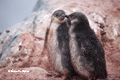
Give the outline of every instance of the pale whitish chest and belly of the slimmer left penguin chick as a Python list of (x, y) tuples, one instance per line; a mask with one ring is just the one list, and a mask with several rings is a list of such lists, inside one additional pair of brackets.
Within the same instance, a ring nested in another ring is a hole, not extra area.
[(63, 72), (63, 66), (61, 62), (61, 49), (59, 49), (59, 41), (58, 41), (58, 28), (60, 24), (52, 23), (50, 26), (49, 32), (49, 42), (48, 42), (48, 49), (49, 49), (49, 59), (51, 60), (52, 64), (54, 65), (55, 70), (58, 72)]

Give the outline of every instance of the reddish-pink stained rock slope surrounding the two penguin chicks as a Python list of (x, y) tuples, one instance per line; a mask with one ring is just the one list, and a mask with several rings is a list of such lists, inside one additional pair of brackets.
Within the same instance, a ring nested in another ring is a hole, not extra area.
[[(47, 54), (43, 54), (42, 50), (45, 31), (49, 26), (51, 14), (57, 9), (63, 9), (67, 14), (75, 11), (86, 14), (91, 28), (103, 44), (109, 74), (108, 79), (119, 80), (119, 4), (120, 0), (51, 0), (47, 1), (45, 9), (41, 11), (39, 11), (38, 6), (35, 8), (38, 10), (28, 16), (25, 21), (0, 33), (0, 80), (53, 80), (52, 77), (47, 78), (45, 76), (47, 71), (51, 70), (51, 66)], [(9, 69), (27, 69), (30, 72), (9, 73)], [(60, 80), (60, 78), (56, 78), (56, 80)]]

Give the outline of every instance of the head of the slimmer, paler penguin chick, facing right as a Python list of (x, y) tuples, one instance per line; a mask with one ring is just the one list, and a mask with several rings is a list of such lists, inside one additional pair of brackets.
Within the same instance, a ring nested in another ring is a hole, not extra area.
[(65, 12), (63, 10), (56, 10), (53, 14), (52, 14), (52, 20), (53, 22), (56, 23), (63, 23), (65, 22)]

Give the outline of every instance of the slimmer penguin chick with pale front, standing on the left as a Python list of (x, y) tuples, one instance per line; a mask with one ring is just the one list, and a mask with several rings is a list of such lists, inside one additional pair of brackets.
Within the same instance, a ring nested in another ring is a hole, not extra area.
[(54, 70), (60, 76), (63, 76), (64, 80), (69, 80), (75, 71), (70, 59), (69, 35), (65, 22), (65, 12), (56, 10), (51, 18), (48, 40), (46, 40), (48, 58)]

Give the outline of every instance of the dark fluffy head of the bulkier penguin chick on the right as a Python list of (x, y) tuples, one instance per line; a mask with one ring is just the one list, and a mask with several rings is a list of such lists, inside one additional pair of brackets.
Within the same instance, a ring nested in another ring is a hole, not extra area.
[(69, 25), (89, 25), (87, 17), (81, 12), (74, 12), (67, 17), (67, 24)]

